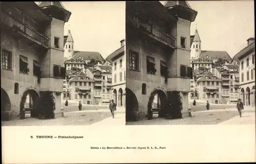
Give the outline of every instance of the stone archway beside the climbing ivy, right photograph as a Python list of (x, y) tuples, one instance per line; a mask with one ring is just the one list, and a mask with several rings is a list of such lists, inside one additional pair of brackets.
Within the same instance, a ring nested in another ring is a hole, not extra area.
[(150, 112), (152, 110), (152, 104), (156, 94), (158, 95), (158, 100), (160, 100), (160, 104), (157, 105), (161, 109), (159, 112), (159, 116), (166, 117), (168, 99), (167, 99), (166, 93), (161, 89), (155, 89), (151, 92), (150, 98), (148, 99), (148, 103), (147, 103), (147, 115), (150, 116)]

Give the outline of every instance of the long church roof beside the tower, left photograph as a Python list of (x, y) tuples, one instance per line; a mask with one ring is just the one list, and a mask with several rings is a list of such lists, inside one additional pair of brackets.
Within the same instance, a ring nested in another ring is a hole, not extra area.
[(91, 51), (74, 51), (73, 57), (79, 59), (79, 56), (83, 58), (83, 60), (92, 60), (95, 61), (105, 61), (105, 59), (101, 56), (99, 52), (91, 52)]

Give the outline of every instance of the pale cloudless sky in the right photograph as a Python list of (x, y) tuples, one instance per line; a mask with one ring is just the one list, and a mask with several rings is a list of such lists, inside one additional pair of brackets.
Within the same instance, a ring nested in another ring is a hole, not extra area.
[[(253, 1), (187, 1), (198, 12), (190, 35), (197, 28), (202, 50), (227, 51), (233, 57), (254, 37)], [(161, 2), (161, 3), (164, 3)]]

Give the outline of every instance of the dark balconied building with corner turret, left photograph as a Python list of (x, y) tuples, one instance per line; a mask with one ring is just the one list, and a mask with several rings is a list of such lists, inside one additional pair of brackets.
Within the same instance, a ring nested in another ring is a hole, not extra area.
[(40, 96), (47, 91), (55, 97), (55, 116), (61, 116), (60, 43), (71, 13), (61, 2), (1, 2), (0, 8), (2, 120), (24, 118), (28, 94), (29, 107), (40, 110)]

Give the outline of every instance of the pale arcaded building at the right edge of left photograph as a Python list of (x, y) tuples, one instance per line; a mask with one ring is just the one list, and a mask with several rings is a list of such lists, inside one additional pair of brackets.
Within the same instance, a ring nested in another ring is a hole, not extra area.
[(111, 53), (106, 60), (112, 64), (112, 99), (119, 107), (125, 107), (126, 59), (124, 55), (125, 40), (121, 47)]

